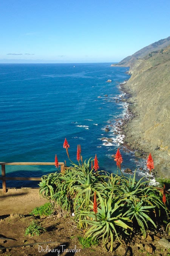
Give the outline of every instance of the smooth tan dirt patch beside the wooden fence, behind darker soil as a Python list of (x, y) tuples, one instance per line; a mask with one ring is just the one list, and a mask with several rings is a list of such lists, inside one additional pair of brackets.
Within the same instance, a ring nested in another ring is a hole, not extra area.
[(0, 217), (16, 213), (28, 214), (46, 202), (45, 198), (40, 198), (39, 188), (9, 188), (6, 193), (0, 189)]

